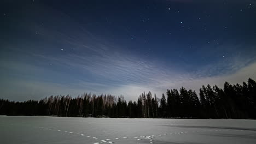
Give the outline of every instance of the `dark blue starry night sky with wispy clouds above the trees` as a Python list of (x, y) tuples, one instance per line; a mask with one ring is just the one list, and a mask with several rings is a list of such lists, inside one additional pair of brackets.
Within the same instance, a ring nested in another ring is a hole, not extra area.
[(4, 99), (256, 79), (255, 0), (3, 0), (0, 20)]

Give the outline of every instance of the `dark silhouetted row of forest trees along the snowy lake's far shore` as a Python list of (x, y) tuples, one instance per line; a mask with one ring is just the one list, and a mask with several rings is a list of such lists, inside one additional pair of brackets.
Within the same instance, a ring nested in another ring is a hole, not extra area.
[(124, 96), (84, 93), (72, 98), (56, 95), (42, 100), (15, 102), (0, 99), (0, 115), (129, 118), (253, 118), (256, 119), (256, 82), (224, 83), (223, 88), (202, 86), (199, 95), (184, 87), (167, 89), (159, 99), (151, 92), (137, 101)]

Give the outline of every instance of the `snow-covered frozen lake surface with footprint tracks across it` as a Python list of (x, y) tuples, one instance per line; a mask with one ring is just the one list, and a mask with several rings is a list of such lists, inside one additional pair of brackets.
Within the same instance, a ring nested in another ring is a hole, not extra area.
[(256, 143), (256, 121), (0, 116), (0, 143)]

